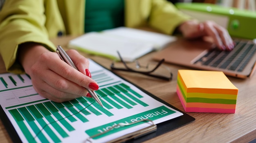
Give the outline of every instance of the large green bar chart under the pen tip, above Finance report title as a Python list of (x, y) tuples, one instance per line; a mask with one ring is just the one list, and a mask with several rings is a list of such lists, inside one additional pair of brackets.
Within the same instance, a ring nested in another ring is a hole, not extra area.
[[(91, 116), (92, 114), (101, 116), (104, 114), (107, 117), (111, 117), (114, 116), (114, 114), (111, 113), (111, 109), (131, 109), (135, 105), (148, 106), (148, 104), (136, 98), (136, 95), (132, 93), (129, 93), (130, 97), (128, 97), (128, 90), (130, 89), (122, 89), (123, 91), (120, 91), (119, 88), (115, 87), (121, 88), (122, 84), (96, 91), (103, 101), (103, 106), (106, 108), (99, 106), (92, 98), (80, 97), (63, 103), (47, 101), (25, 107), (18, 107), (9, 110), (9, 112), (16, 120), (22, 132), (27, 134), (29, 128), (34, 132), (29, 131), (31, 132), (27, 135), (29, 142), (35, 141), (35, 136), (32, 134), (36, 134), (36, 137), (43, 142), (61, 142), (58, 136), (60, 135), (62, 138), (69, 137), (69, 132), (75, 130), (72, 123), (76, 121), (82, 123), (89, 122), (86, 118), (87, 116)], [(25, 126), (24, 122), (27, 122), (28, 126)], [(37, 124), (40, 126), (37, 126)], [(53, 129), (50, 128), (49, 125), (51, 125)], [(43, 130), (48, 133), (47, 136), (50, 137), (50, 140), (45, 137), (42, 132)], [(54, 131), (57, 131), (57, 134), (54, 133)]]

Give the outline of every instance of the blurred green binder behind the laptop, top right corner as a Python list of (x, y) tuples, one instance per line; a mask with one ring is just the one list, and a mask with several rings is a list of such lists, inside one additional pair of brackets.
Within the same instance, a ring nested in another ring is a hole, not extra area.
[(200, 22), (211, 20), (232, 37), (256, 39), (256, 0), (168, 0)]

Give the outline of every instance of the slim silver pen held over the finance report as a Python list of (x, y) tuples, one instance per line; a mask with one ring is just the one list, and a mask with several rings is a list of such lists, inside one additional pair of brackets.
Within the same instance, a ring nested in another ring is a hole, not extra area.
[[(58, 55), (61, 57), (61, 59), (63, 61), (65, 61), (68, 65), (70, 65), (71, 67), (74, 67), (76, 70), (78, 70), (75, 66), (75, 64), (73, 63), (73, 61), (71, 60), (71, 58), (67, 55), (67, 53), (65, 52), (65, 50), (63, 50), (63, 48), (58, 45), (57, 46), (57, 50), (56, 52), (58, 53)], [(90, 93), (90, 95), (92, 95), (92, 98), (94, 100), (96, 100), (96, 102), (103, 107), (102, 103), (101, 103), (101, 100), (99, 99), (99, 97), (97, 96), (97, 94), (94, 92), (94, 91), (91, 91), (90, 89), (87, 89), (86, 90)]]

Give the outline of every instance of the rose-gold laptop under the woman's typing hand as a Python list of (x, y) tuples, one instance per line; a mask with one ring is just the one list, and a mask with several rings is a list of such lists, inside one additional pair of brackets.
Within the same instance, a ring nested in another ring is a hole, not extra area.
[(194, 69), (222, 71), (227, 76), (247, 78), (256, 68), (256, 44), (253, 40), (234, 39), (232, 51), (221, 51), (209, 40), (177, 39), (153, 55), (154, 60)]

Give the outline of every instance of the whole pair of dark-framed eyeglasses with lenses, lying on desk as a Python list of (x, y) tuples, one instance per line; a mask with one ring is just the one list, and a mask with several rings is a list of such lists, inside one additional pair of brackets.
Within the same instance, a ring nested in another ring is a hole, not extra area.
[(173, 74), (168, 67), (162, 65), (164, 63), (164, 59), (157, 62), (150, 62), (147, 65), (141, 65), (139, 61), (135, 60), (133, 62), (125, 62), (121, 57), (121, 54), (117, 51), (119, 58), (122, 62), (122, 65), (116, 64), (113, 62), (111, 64), (112, 70), (120, 70), (126, 72), (135, 72), (139, 74), (144, 74), (146, 76), (151, 76), (154, 78), (159, 78), (162, 80), (171, 80), (173, 78)]

